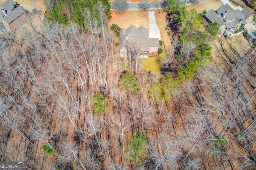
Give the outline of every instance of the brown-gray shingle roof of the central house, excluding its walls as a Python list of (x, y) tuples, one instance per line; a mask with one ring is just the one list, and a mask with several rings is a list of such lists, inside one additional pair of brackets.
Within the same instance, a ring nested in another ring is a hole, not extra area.
[(125, 47), (127, 41), (139, 47), (140, 51), (149, 51), (149, 47), (159, 46), (158, 38), (150, 39), (148, 28), (143, 26), (136, 28), (134, 25), (131, 25), (127, 29), (121, 29), (119, 32), (119, 49)]

